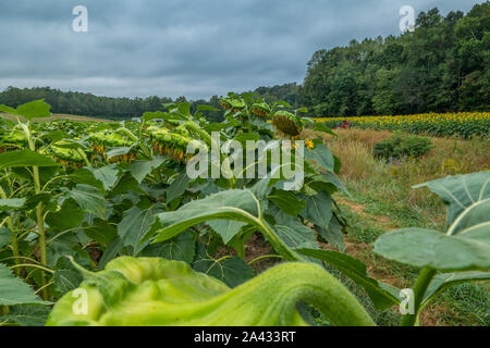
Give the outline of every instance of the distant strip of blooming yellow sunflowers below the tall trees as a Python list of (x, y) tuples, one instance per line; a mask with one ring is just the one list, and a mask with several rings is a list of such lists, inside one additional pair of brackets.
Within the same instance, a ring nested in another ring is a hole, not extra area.
[[(345, 117), (314, 119), (332, 128)], [(359, 116), (347, 119), (353, 127), (376, 130), (403, 130), (436, 137), (488, 136), (490, 112), (422, 113), (395, 116)]]

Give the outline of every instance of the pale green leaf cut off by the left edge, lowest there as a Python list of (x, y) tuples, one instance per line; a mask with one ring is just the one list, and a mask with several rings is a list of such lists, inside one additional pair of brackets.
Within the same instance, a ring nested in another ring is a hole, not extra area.
[(12, 272), (0, 263), (0, 304), (45, 304), (34, 290), (21, 278), (15, 277)]

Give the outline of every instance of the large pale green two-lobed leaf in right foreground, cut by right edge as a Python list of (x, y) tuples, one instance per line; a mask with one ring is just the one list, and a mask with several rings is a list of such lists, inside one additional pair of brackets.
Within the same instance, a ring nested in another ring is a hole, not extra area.
[(428, 183), (450, 204), (445, 234), (407, 228), (382, 235), (375, 252), (402, 263), (441, 271), (490, 268), (490, 172)]

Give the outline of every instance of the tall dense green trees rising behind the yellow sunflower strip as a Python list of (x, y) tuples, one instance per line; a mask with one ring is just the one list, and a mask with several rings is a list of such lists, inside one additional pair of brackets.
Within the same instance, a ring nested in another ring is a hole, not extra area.
[(432, 9), (413, 33), (315, 52), (303, 100), (318, 116), (489, 110), (489, 66), (490, 2)]

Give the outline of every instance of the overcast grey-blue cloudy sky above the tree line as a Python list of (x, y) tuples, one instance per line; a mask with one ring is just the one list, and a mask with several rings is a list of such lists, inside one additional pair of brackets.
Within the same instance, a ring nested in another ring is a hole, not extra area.
[[(0, 89), (192, 99), (302, 83), (321, 48), (399, 35), (400, 8), (482, 0), (1, 0)], [(76, 5), (88, 32), (75, 33)]]

